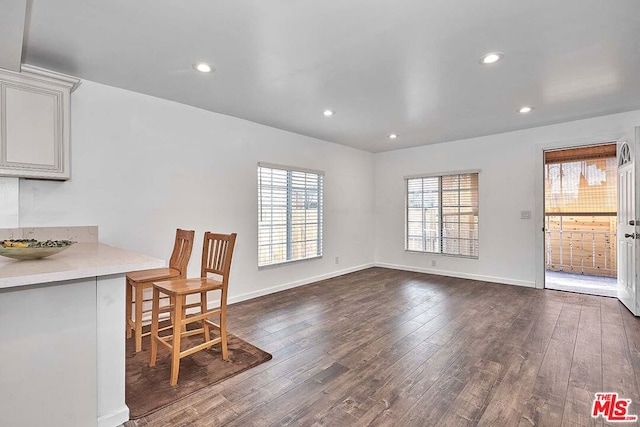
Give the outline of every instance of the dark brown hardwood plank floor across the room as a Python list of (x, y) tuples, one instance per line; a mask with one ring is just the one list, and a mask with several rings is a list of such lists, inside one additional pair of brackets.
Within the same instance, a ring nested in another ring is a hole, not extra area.
[(126, 426), (605, 425), (601, 391), (640, 415), (640, 319), (614, 298), (371, 268), (228, 328), (273, 360)]

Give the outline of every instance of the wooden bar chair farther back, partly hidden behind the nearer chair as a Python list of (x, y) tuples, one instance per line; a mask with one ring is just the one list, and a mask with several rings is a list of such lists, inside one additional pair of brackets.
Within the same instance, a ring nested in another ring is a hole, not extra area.
[[(193, 249), (193, 230), (176, 230), (176, 239), (173, 245), (168, 268), (153, 268), (150, 270), (132, 271), (127, 273), (127, 306), (126, 306), (126, 328), (127, 338), (131, 338), (133, 331), (135, 337), (136, 352), (142, 350), (142, 337), (150, 333), (142, 333), (142, 316), (149, 313), (150, 309), (145, 309), (143, 304), (151, 301), (144, 298), (144, 290), (153, 286), (153, 282), (158, 280), (169, 280), (173, 278), (187, 277), (187, 266), (191, 258)], [(135, 308), (132, 316), (132, 308)]]

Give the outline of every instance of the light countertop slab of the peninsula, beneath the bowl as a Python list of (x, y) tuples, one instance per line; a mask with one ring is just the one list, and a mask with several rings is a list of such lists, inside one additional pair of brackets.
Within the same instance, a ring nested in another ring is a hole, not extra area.
[(76, 243), (37, 260), (0, 257), (0, 289), (165, 267), (164, 260), (102, 243)]

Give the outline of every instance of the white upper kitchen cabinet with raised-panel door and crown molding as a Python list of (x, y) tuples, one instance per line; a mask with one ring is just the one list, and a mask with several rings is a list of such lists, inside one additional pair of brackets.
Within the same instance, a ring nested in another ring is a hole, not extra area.
[(42, 68), (0, 69), (0, 176), (69, 179), (71, 92), (79, 80)]

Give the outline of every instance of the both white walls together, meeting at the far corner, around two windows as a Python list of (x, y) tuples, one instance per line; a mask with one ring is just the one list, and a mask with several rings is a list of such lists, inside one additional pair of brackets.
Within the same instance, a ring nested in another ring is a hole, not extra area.
[[(102, 242), (164, 259), (175, 228), (192, 228), (190, 275), (205, 230), (235, 231), (232, 301), (373, 261), (533, 286), (541, 146), (600, 142), (640, 124), (634, 111), (373, 155), (88, 81), (72, 99), (72, 179), (20, 180), (19, 225), (98, 225)], [(258, 270), (259, 161), (326, 172), (321, 260)], [(467, 169), (481, 170), (480, 258), (405, 252), (403, 177)], [(534, 218), (521, 220), (522, 210)]]

